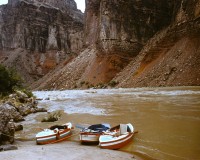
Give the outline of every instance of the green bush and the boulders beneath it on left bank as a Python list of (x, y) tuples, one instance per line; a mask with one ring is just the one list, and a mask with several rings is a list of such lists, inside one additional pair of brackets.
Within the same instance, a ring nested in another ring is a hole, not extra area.
[(23, 117), (31, 113), (46, 112), (46, 109), (37, 107), (32, 92), (22, 83), (15, 70), (0, 65), (0, 146), (13, 143), (15, 131), (23, 129), (15, 122), (23, 121)]

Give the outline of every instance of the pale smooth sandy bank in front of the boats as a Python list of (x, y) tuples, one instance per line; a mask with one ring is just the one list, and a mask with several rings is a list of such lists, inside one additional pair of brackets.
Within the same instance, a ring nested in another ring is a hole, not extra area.
[(16, 144), (18, 150), (0, 152), (2, 160), (134, 160), (132, 154), (100, 149), (98, 146), (81, 145), (64, 141), (49, 145), (36, 145), (35, 141)]

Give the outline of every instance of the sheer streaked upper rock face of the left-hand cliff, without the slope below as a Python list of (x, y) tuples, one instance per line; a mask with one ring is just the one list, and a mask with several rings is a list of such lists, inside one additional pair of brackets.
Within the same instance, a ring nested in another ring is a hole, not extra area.
[[(81, 21), (63, 14), (56, 8), (57, 5), (53, 6), (53, 1), (49, 2), (52, 6), (44, 2), (31, 2), (15, 0), (1, 7), (1, 49), (25, 48), (33, 52), (58, 50), (70, 53), (82, 47)], [(63, 7), (66, 5), (63, 4)], [(75, 4), (71, 6), (76, 9)]]

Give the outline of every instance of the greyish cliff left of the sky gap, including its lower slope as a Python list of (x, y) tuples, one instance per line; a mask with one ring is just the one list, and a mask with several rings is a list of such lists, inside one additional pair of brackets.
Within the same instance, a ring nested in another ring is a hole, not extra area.
[(83, 14), (74, 0), (9, 0), (0, 7), (1, 63), (32, 83), (83, 46)]

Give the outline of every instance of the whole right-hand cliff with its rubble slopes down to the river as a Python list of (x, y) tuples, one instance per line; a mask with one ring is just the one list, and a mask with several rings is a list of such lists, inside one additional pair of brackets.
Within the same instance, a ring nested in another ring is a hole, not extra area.
[(88, 49), (35, 87), (200, 84), (199, 0), (87, 0), (86, 7)]

